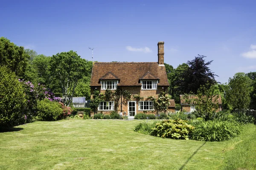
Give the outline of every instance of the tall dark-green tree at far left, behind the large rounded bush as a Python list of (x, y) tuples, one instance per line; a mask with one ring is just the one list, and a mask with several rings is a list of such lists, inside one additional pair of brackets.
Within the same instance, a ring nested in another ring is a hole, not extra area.
[(23, 77), (29, 55), (24, 47), (19, 47), (5, 37), (0, 37), (0, 65), (6, 66), (18, 77)]

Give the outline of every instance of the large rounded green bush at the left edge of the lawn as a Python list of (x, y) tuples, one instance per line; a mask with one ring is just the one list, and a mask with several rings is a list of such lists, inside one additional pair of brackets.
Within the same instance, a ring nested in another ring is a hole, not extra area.
[(20, 82), (14, 73), (0, 67), (0, 129), (23, 124), (26, 119), (24, 106), (26, 99)]

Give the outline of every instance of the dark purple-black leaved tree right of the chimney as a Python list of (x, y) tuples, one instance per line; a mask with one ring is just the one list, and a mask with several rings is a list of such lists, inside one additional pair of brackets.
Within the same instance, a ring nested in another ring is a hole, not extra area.
[(182, 81), (180, 83), (180, 89), (183, 93), (193, 92), (197, 94), (201, 85), (209, 85), (216, 83), (215, 75), (209, 68), (209, 65), (213, 60), (205, 62), (206, 56), (199, 55), (195, 59), (188, 61), (188, 70), (182, 75)]

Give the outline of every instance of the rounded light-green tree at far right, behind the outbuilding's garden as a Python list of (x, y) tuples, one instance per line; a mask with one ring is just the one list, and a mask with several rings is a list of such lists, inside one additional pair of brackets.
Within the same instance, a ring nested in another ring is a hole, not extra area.
[(252, 80), (245, 73), (236, 73), (229, 78), (227, 102), (233, 109), (247, 109), (250, 105), (250, 93), (253, 90)]

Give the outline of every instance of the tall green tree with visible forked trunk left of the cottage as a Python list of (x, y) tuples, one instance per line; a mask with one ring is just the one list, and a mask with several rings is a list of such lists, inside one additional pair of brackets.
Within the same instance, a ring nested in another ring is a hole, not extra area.
[(89, 74), (89, 70), (87, 61), (75, 51), (61, 52), (52, 56), (51, 76), (58, 79), (61, 85), (65, 105), (70, 105), (78, 80)]

